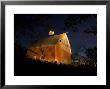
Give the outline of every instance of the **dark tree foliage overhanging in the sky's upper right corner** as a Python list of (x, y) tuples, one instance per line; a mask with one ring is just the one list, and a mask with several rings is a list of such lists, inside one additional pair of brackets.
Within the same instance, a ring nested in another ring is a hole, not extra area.
[[(88, 21), (88, 19), (96, 19), (97, 15), (93, 14), (78, 14), (78, 15), (68, 15), (67, 18), (65, 19), (65, 26), (67, 28), (74, 28), (72, 29), (73, 32), (78, 31), (78, 25), (83, 24)], [(96, 35), (96, 26), (90, 26), (89, 29), (86, 29), (84, 32), (86, 33), (93, 33)]]

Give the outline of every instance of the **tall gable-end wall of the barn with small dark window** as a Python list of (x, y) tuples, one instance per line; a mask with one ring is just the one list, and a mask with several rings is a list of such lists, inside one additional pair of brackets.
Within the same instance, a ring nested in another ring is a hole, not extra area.
[(60, 35), (59, 41), (55, 46), (55, 56), (57, 61), (71, 64), (71, 48), (66, 33)]

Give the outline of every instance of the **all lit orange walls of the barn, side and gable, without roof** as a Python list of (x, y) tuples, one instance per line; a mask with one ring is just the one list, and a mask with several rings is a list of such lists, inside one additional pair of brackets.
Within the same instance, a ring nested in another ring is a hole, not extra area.
[(34, 60), (71, 64), (71, 48), (66, 33), (60, 34), (59, 40), (54, 45), (31, 47), (27, 50), (27, 57)]

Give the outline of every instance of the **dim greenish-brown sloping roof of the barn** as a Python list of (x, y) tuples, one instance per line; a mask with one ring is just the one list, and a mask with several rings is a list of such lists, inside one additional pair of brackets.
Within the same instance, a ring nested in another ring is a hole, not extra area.
[(44, 47), (49, 45), (55, 45), (59, 40), (59, 35), (52, 35), (47, 38), (41, 39), (32, 44), (32, 47)]

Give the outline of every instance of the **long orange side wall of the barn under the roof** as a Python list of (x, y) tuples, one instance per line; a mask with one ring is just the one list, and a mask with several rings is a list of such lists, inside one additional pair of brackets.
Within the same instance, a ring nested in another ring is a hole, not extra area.
[(26, 56), (27, 58), (34, 60), (46, 60), (52, 62), (55, 60), (55, 46), (30, 48), (27, 50)]

